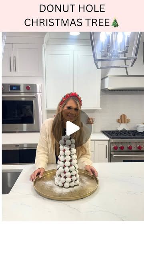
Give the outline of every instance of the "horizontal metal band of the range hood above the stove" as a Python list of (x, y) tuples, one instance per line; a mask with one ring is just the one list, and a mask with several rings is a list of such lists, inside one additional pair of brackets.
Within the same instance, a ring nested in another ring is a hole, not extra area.
[(108, 75), (101, 79), (103, 91), (139, 91), (144, 90), (144, 75)]

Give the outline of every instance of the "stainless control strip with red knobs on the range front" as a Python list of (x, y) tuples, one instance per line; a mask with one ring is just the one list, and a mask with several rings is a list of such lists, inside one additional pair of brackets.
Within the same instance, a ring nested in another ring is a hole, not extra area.
[(144, 142), (112, 142), (111, 151), (144, 151)]

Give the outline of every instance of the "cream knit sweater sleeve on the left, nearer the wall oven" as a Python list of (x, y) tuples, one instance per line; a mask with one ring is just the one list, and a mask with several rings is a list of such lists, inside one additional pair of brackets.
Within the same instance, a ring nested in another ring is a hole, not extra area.
[(48, 132), (46, 132), (46, 125), (44, 122), (40, 130), (40, 138), (36, 149), (36, 169), (44, 168), (46, 170), (48, 164), (48, 141)]

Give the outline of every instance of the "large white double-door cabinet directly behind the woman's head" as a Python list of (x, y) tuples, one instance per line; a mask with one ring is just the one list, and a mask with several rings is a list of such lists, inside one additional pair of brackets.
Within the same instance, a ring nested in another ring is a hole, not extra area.
[(68, 92), (80, 95), (82, 109), (100, 108), (100, 70), (92, 51), (45, 50), (45, 76), (46, 109), (56, 109)]

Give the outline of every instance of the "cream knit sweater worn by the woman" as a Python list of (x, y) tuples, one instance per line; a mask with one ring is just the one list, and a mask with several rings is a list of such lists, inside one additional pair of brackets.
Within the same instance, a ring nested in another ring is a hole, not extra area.
[[(55, 150), (52, 149), (52, 140), (50, 135), (53, 120), (54, 118), (46, 119), (42, 124), (40, 138), (36, 149), (36, 169), (43, 167), (46, 170), (47, 164), (56, 164)], [(80, 169), (84, 169), (84, 166), (87, 164), (92, 165), (92, 161), (90, 160), (90, 139), (88, 139), (84, 146), (86, 148), (86, 154), (81, 155), (80, 158), (77, 159), (78, 168)]]

